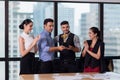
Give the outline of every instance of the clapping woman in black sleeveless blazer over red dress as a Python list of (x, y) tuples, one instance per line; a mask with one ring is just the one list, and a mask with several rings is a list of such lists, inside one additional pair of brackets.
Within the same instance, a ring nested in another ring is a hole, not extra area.
[(90, 40), (84, 41), (82, 57), (84, 72), (101, 72), (101, 60), (104, 57), (104, 43), (100, 40), (100, 31), (96, 27), (89, 29)]

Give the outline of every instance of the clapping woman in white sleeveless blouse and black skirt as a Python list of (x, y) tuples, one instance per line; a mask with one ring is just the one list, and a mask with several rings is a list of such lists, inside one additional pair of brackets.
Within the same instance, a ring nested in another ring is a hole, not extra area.
[(34, 38), (30, 33), (32, 26), (33, 22), (30, 19), (24, 20), (19, 26), (23, 30), (19, 36), (19, 49), (22, 56), (20, 61), (20, 74), (34, 73), (34, 55), (37, 52), (36, 43), (39, 40), (39, 36)]

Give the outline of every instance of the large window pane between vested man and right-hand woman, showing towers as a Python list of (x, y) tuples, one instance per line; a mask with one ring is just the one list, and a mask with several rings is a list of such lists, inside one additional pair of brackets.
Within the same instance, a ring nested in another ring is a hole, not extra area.
[[(81, 48), (88, 38), (90, 27), (99, 27), (98, 4), (90, 3), (59, 3), (58, 4), (58, 34), (61, 34), (60, 23), (69, 21), (70, 31), (79, 36)], [(59, 56), (59, 54), (58, 54)], [(76, 54), (80, 57), (80, 53)]]

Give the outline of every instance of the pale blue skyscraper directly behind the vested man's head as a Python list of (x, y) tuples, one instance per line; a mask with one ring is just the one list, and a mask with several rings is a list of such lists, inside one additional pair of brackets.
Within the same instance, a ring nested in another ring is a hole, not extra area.
[(58, 33), (61, 34), (60, 23), (64, 20), (67, 20), (70, 25), (70, 31), (74, 32), (74, 8), (66, 7), (65, 5), (58, 4)]

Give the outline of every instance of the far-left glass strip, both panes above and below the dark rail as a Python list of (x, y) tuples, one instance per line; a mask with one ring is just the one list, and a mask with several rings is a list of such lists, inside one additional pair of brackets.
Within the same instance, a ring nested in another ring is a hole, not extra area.
[[(5, 2), (0, 1), (0, 58), (5, 57)], [(0, 79), (5, 80), (5, 62), (0, 61)]]

